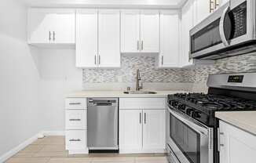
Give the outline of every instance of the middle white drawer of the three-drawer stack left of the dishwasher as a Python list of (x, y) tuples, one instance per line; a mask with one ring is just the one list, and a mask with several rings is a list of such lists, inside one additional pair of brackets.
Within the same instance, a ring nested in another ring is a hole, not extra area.
[(86, 110), (66, 110), (66, 129), (86, 129)]

